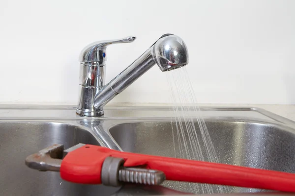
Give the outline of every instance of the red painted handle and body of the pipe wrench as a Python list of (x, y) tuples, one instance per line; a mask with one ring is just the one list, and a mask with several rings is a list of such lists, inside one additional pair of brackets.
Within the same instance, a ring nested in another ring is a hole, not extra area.
[(121, 152), (92, 145), (69, 152), (61, 162), (60, 176), (70, 182), (100, 184), (102, 164), (109, 156), (124, 158), (125, 167), (145, 166), (162, 171), (167, 180), (295, 192), (294, 173)]

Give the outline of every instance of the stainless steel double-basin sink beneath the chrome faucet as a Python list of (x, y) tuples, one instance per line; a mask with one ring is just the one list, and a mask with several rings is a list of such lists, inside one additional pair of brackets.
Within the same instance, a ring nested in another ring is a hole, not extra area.
[[(256, 108), (201, 110), (219, 162), (295, 172), (295, 122)], [(25, 165), (28, 155), (54, 143), (66, 148), (86, 143), (173, 157), (171, 117), (169, 107), (107, 106), (103, 117), (91, 118), (76, 115), (74, 106), (2, 106), (0, 195), (148, 196), (180, 194), (176, 190), (191, 192), (187, 184), (169, 181), (157, 187), (79, 185), (61, 180), (57, 172), (38, 172)], [(260, 191), (228, 189), (228, 193)]]

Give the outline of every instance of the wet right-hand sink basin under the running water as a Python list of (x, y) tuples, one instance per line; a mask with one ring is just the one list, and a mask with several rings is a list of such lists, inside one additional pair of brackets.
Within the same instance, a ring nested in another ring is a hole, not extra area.
[[(220, 163), (295, 172), (294, 129), (255, 121), (206, 120), (206, 125)], [(185, 127), (184, 124), (183, 126)], [(198, 137), (202, 138), (197, 122), (195, 127)], [(121, 123), (111, 127), (109, 131), (124, 151), (180, 157), (176, 123), (170, 121)], [(189, 141), (188, 134), (184, 137)], [(183, 146), (183, 143), (180, 145)], [(200, 150), (206, 154), (205, 146), (201, 144), (201, 147)], [(206, 157), (205, 160), (208, 161)], [(164, 186), (183, 192), (189, 190), (194, 192), (188, 183), (165, 182)], [(202, 190), (201, 185), (198, 186), (199, 190)], [(216, 185), (212, 188), (214, 193), (218, 193)], [(227, 187), (223, 188), (223, 191), (233, 193), (262, 190)]]

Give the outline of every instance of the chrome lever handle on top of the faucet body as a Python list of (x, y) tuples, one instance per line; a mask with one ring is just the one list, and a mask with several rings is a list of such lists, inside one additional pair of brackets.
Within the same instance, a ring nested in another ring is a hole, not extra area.
[(119, 43), (131, 43), (135, 39), (135, 36), (129, 36), (122, 39), (93, 42), (81, 51), (79, 61), (81, 63), (96, 63), (99, 61), (106, 61), (106, 47), (108, 45)]

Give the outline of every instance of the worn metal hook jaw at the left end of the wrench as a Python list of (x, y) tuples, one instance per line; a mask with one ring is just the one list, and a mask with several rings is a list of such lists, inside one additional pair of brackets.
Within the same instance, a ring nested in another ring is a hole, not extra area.
[(39, 171), (59, 172), (63, 156), (63, 145), (54, 144), (26, 158), (26, 165)]

